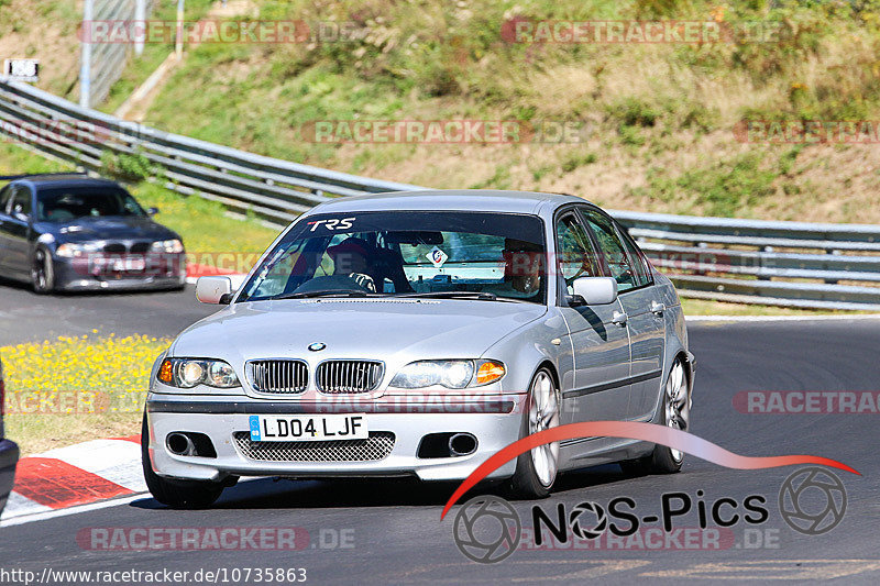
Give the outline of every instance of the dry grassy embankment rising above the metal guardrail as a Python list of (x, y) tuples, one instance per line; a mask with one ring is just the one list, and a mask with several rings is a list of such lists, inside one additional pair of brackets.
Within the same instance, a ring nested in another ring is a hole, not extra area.
[[(741, 120), (880, 119), (878, 2), (258, 1), (345, 41), (202, 44), (147, 123), (431, 187), (566, 191), (647, 211), (880, 222), (876, 145), (744, 144)], [(772, 8), (768, 8), (772, 5)], [(781, 41), (528, 44), (531, 20), (771, 21)], [(582, 144), (314, 144), (319, 120), (583, 120)]]

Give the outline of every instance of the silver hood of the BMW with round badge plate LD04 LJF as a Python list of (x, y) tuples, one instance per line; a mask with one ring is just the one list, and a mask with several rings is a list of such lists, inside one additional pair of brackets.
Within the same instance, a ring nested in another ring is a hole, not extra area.
[[(169, 356), (404, 363), (479, 358), (547, 308), (461, 299), (288, 299), (235, 303), (184, 331)], [(327, 344), (320, 352), (307, 346)]]

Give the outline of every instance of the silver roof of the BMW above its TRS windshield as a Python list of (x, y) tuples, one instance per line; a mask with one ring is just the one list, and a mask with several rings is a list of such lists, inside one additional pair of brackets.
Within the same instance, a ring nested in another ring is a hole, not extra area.
[(426, 189), (391, 191), (334, 199), (314, 209), (315, 213), (393, 210), (495, 211), (537, 213), (542, 203), (584, 203), (585, 199), (539, 191), (503, 191), (493, 189)]

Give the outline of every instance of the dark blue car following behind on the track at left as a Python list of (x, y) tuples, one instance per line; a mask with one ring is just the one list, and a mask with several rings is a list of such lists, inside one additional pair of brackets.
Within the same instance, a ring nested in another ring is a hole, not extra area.
[(0, 190), (0, 276), (40, 294), (184, 287), (180, 236), (118, 184), (76, 174), (12, 179)]

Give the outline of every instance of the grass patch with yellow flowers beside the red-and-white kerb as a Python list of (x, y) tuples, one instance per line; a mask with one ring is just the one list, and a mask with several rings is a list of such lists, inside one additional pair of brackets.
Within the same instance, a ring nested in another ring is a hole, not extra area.
[(139, 433), (150, 368), (168, 344), (111, 334), (0, 347), (7, 435), (31, 455)]

